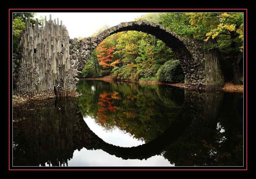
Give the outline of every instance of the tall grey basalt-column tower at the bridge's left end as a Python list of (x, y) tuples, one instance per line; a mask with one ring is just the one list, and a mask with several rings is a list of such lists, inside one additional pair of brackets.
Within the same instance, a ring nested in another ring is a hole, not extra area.
[(76, 82), (70, 69), (69, 35), (59, 19), (33, 27), (26, 20), (21, 34), (21, 58), (13, 55), (16, 89), (14, 94), (26, 100), (68, 97), (76, 94)]

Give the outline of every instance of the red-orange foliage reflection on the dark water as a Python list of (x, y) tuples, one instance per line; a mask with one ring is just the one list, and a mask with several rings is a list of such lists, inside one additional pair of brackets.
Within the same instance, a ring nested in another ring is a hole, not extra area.
[[(102, 123), (106, 123), (106, 118), (107, 118), (107, 114), (109, 112), (116, 112), (116, 108), (114, 106), (114, 101), (113, 101), (113, 95), (115, 95), (114, 93), (107, 93), (106, 91), (104, 91), (102, 94), (100, 94), (99, 96), (99, 101), (98, 104), (100, 105), (99, 109), (98, 109), (98, 119), (100, 120), (100, 122)], [(116, 95), (115, 95), (116, 97)]]

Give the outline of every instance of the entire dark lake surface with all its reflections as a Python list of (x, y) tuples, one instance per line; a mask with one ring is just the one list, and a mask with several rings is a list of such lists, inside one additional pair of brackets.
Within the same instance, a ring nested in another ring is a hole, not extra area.
[(243, 94), (79, 81), (13, 108), (13, 166), (243, 166)]

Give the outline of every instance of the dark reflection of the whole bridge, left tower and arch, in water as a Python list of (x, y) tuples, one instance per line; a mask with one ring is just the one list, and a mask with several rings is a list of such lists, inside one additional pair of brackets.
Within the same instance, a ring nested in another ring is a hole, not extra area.
[[(19, 107), (14, 113), (14, 119), (19, 116), (22, 120), (13, 123), (13, 142), (18, 144), (13, 150), (13, 165), (38, 166), (50, 161), (53, 166), (59, 166), (73, 157), (74, 150), (80, 150), (83, 147), (89, 150), (102, 149), (123, 159), (142, 160), (160, 154), (166, 146), (182, 136), (190, 124), (190, 120), (186, 119), (203, 118), (200, 112), (202, 107), (204, 108), (203, 96), (205, 95), (187, 93), (189, 94), (187, 98), (185, 97), (183, 107), (189, 115), (191, 111), (194, 115), (188, 118), (186, 114), (182, 114), (162, 135), (146, 144), (131, 148), (108, 144), (95, 135), (84, 122), (74, 98), (49, 100), (44, 103), (44, 106), (36, 105), (36, 102), (31, 101), (30, 105), (24, 106), (27, 110)], [(214, 106), (217, 107), (220, 102), (221, 98), (220, 101), (215, 101)], [(197, 104), (191, 108), (191, 103)], [(215, 110), (218, 111), (218, 107)], [(209, 116), (213, 116), (212, 114), (216, 111), (209, 112), (211, 113)], [(52, 119), (49, 119), (49, 116), (53, 116)]]

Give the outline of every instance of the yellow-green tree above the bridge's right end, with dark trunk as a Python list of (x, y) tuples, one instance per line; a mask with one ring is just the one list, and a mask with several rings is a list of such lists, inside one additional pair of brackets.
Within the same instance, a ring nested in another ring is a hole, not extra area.
[(233, 83), (238, 83), (238, 64), (243, 52), (243, 13), (162, 13), (160, 23), (182, 37), (206, 41), (216, 38), (215, 48), (221, 51), (224, 60), (232, 63)]

